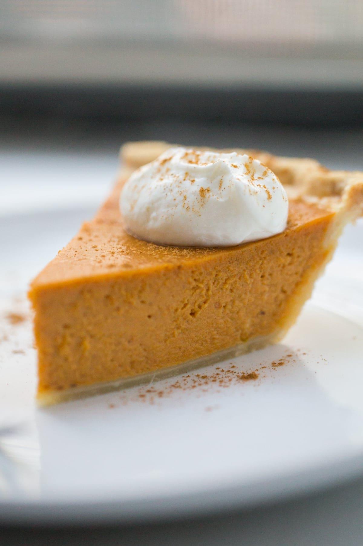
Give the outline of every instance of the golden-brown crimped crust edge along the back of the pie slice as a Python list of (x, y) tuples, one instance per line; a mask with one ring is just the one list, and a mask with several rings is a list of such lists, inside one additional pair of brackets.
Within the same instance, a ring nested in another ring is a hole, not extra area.
[[(175, 145), (156, 140), (124, 144), (120, 153), (122, 176), (127, 177), (134, 169), (150, 163), (171, 146)], [(320, 204), (324, 209), (344, 215), (346, 222), (363, 216), (363, 173), (360, 171), (330, 170), (315, 159), (274, 156), (261, 150), (234, 148), (223, 151), (247, 153), (259, 159), (279, 177), (289, 198)]]

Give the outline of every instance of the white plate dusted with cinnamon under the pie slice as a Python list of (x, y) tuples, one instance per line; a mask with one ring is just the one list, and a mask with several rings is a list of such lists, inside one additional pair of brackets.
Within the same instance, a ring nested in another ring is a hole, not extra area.
[[(361, 223), (283, 343), (199, 371), (235, 365), (257, 369), (257, 380), (192, 389), (194, 375), (184, 389), (158, 383), (162, 397), (133, 388), (37, 409), (31, 322), (5, 315), (28, 313), (29, 279), (89, 216), (0, 218), (0, 520), (177, 517), (363, 473)], [(272, 366), (279, 358), (285, 365)]]

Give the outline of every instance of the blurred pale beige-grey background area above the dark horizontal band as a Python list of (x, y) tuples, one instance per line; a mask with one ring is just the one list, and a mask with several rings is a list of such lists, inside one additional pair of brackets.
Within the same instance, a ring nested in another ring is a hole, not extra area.
[(360, 0), (3, 0), (0, 82), (362, 86)]

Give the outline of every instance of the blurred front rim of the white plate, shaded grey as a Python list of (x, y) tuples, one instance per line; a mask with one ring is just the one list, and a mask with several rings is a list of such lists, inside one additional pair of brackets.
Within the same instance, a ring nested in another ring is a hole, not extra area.
[[(153, 495), (133, 500), (69, 502), (69, 500), (0, 500), (0, 523), (32, 525), (85, 525), (156, 523), (203, 517), (231, 509), (257, 507), (308, 496), (363, 477), (363, 453), (343, 456), (283, 477), (275, 476), (251, 484), (204, 488), (198, 492)], [(182, 502), (181, 502), (182, 501)]]

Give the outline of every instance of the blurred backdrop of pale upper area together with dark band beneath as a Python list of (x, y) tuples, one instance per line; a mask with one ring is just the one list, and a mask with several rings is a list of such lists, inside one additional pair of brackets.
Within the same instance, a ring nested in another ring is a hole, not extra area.
[(2, 109), (350, 123), (360, 0), (2, 0)]

